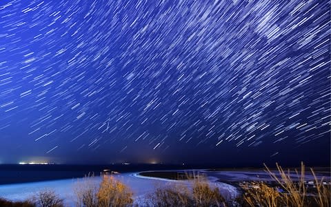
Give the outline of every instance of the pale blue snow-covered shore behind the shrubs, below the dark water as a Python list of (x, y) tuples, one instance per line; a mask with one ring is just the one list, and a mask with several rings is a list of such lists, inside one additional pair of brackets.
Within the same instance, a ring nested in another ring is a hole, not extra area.
[[(114, 177), (132, 189), (134, 193), (134, 199), (136, 200), (143, 198), (148, 193), (152, 193), (156, 186), (165, 186), (173, 182), (183, 182), (184, 184), (190, 185), (189, 181), (174, 181), (156, 177), (143, 177), (138, 175), (137, 172), (123, 173), (120, 175), (114, 175)], [(61, 179), (55, 181), (39, 181), (25, 184), (0, 185), (0, 197), (18, 201), (29, 199), (40, 190), (52, 189), (61, 198), (64, 199), (66, 206), (74, 206), (74, 186), (78, 181), (81, 180), (82, 179)], [(99, 183), (101, 181), (101, 177), (92, 177), (90, 180), (92, 182)], [(210, 177), (210, 181), (212, 181), (220, 188), (221, 193), (225, 195), (225, 197), (232, 198), (237, 195), (237, 190), (234, 186), (214, 182), (216, 180), (216, 178)]]

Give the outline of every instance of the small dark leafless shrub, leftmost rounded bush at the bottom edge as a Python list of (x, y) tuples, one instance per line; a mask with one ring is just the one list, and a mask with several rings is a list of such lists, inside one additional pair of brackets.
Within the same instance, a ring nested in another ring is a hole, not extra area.
[(32, 197), (32, 204), (40, 207), (62, 207), (63, 199), (54, 190), (42, 190)]

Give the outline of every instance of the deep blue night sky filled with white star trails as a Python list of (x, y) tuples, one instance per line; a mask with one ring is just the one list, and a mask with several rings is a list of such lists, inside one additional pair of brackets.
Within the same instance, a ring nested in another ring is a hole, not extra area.
[(328, 1), (0, 1), (0, 163), (330, 164)]

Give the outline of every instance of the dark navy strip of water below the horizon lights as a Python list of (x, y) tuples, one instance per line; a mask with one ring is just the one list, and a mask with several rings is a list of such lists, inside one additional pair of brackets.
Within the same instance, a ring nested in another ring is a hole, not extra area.
[(104, 169), (118, 172), (137, 172), (144, 170), (176, 170), (214, 168), (217, 166), (189, 166), (163, 164), (113, 164), (113, 165), (0, 165), (0, 184), (15, 184), (31, 181), (45, 181), (53, 179), (69, 179), (84, 177), (89, 173), (100, 175)]

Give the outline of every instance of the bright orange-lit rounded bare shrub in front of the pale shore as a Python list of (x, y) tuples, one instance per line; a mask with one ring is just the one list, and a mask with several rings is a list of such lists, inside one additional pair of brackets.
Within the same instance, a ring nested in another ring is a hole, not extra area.
[(113, 177), (103, 177), (97, 193), (99, 207), (129, 206), (133, 203), (132, 191)]

